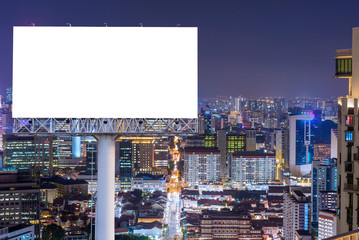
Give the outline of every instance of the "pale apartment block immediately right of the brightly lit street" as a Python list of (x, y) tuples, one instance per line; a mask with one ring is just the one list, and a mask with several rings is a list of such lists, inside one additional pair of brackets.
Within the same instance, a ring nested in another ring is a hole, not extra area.
[(184, 181), (191, 185), (221, 179), (221, 155), (217, 148), (185, 148)]

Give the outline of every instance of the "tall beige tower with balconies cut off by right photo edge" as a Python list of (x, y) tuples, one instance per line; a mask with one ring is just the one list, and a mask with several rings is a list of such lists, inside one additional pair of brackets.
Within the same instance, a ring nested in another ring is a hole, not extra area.
[(338, 229), (359, 226), (359, 28), (353, 28), (352, 49), (336, 51), (337, 78), (349, 78), (349, 94), (338, 99)]

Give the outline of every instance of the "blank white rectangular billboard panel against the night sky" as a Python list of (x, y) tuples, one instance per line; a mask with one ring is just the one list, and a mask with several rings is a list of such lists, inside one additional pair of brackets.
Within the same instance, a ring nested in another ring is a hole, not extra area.
[(196, 118), (197, 28), (14, 27), (14, 118)]

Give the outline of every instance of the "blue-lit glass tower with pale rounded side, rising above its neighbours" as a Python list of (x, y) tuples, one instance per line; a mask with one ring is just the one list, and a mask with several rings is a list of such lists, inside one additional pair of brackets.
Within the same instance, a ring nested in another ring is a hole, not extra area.
[(311, 111), (292, 109), (289, 112), (289, 169), (294, 176), (311, 171), (313, 160), (313, 123)]

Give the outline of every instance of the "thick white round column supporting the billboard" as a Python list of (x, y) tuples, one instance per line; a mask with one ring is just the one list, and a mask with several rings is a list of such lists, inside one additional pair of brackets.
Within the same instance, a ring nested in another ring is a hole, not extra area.
[(98, 146), (96, 239), (115, 239), (115, 136), (96, 135)]

